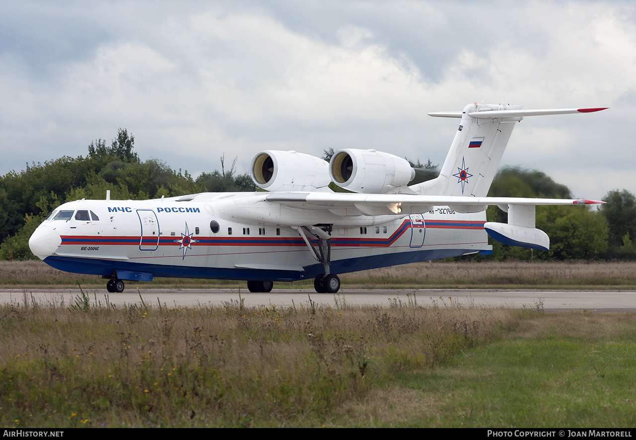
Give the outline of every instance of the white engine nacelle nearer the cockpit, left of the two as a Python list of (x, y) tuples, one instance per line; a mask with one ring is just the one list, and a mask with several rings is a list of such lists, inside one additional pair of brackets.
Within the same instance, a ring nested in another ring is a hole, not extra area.
[(268, 191), (315, 191), (328, 187), (329, 164), (319, 157), (296, 152), (267, 150), (252, 159), (249, 174)]

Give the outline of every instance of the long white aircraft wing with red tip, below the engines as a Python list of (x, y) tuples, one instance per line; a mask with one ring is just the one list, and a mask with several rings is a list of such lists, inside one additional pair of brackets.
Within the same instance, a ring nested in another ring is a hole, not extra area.
[[(325, 192), (277, 192), (265, 197), (291, 208), (333, 209), (356, 208), (366, 215), (417, 214), (430, 211), (434, 206), (448, 206), (459, 213), (480, 212), (490, 205), (508, 211), (508, 205), (566, 205), (605, 203), (582, 199), (532, 199), (522, 197), (465, 197), (448, 195), (411, 194), (348, 194)], [(352, 211), (352, 215), (354, 211)]]

